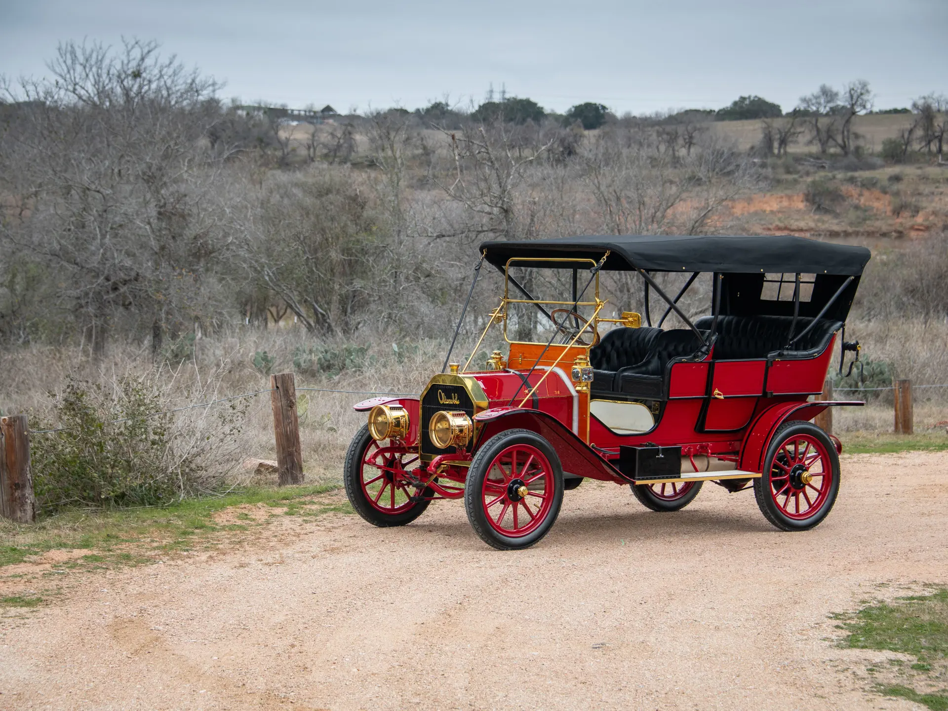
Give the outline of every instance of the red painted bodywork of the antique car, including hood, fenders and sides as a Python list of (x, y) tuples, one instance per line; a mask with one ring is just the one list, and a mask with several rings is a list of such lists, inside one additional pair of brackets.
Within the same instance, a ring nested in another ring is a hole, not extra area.
[[(834, 343), (835, 337), (822, 353), (810, 358), (715, 361), (708, 356), (698, 362), (672, 362), (666, 372), (667, 399), (656, 425), (641, 434), (617, 434), (591, 415), (589, 393), (576, 392), (566, 366), (554, 358), (542, 360), (546, 365), (533, 373), (526, 368), (468, 373), (465, 375), (477, 381), (488, 401), (487, 409), (474, 416), (475, 438), (470, 451), (438, 457), (428, 468), (432, 474), (440, 471), (442, 477), (463, 482), (464, 467), (447, 462), (469, 460), (495, 434), (526, 428), (553, 445), (564, 471), (601, 481), (629, 483), (617, 466), (619, 447), (646, 443), (683, 447), (686, 456), (717, 455), (736, 462), (742, 471), (759, 472), (780, 423), (810, 420), (828, 407), (863, 404), (808, 401), (810, 395), (822, 392)], [(535, 387), (537, 391), (527, 397)], [(360, 402), (356, 410), (371, 410), (380, 404), (401, 405), (409, 411), (410, 431), (404, 445), (417, 447), (419, 401), (374, 397)], [(432, 487), (441, 496), (457, 495), (454, 490)]]

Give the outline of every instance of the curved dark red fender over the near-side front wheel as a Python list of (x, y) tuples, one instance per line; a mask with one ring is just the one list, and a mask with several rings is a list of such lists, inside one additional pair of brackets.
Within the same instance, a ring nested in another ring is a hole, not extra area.
[(603, 482), (629, 483), (629, 479), (622, 475), (592, 447), (579, 439), (570, 428), (551, 414), (541, 410), (526, 410), (522, 408), (493, 408), (483, 410), (474, 415), (474, 421), (482, 425), (477, 442), (474, 443), (474, 452), (493, 437), (507, 429), (529, 429), (549, 442), (563, 471), (568, 471), (578, 477), (589, 477)]

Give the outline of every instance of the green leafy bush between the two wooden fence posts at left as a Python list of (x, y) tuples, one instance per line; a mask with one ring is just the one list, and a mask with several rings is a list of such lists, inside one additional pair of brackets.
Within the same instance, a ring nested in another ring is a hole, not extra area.
[(35, 429), (58, 430), (30, 437), (40, 509), (155, 506), (216, 488), (242, 456), (248, 401), (175, 415), (162, 393), (147, 376), (114, 389), (70, 378), (34, 419)]

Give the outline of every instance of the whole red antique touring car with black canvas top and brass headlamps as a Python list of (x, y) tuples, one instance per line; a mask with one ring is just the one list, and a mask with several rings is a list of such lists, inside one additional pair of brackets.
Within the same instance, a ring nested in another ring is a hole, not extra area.
[[(753, 482), (761, 512), (785, 531), (830, 513), (841, 446), (811, 420), (863, 403), (811, 395), (823, 390), (866, 248), (791, 236), (592, 236), (488, 242), (482, 254), (504, 292), (465, 365), (445, 373), (448, 353), (420, 400), (356, 405), (368, 423), (344, 480), (365, 520), (404, 525), (430, 501), (464, 498), (485, 542), (525, 548), (584, 478), (628, 483), (654, 511), (683, 508), (705, 481), (730, 491)], [(480, 264), (475, 283), (479, 273)], [(641, 278), (644, 315), (607, 311), (602, 276), (620, 284), (615, 299)], [(676, 280), (669, 297), (662, 283)], [(683, 301), (689, 289), (706, 295), (702, 318), (694, 292)], [(654, 325), (652, 295), (665, 301)], [(684, 327), (663, 330), (669, 317)], [(507, 353), (469, 370), (495, 325)], [(847, 350), (858, 357), (858, 343), (843, 342), (841, 358)]]

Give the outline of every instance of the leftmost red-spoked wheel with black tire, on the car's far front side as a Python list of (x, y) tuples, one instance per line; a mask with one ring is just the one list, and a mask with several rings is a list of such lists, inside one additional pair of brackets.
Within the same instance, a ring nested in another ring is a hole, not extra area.
[(428, 508), (429, 501), (417, 501), (411, 472), (419, 465), (418, 453), (410, 447), (376, 442), (366, 425), (349, 446), (343, 481), (346, 495), (356, 512), (376, 526), (410, 523)]

